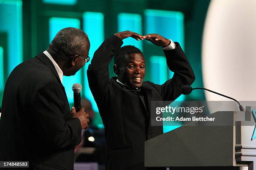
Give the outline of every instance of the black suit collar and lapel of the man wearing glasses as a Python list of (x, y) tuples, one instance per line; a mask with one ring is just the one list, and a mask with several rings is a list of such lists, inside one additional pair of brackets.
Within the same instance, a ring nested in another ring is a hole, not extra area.
[[(63, 92), (64, 92), (64, 95), (65, 95), (65, 97), (66, 97), (66, 99), (67, 99), (67, 94), (66, 94), (65, 88), (64, 88), (64, 86), (62, 85), (61, 80), (59, 79), (59, 75), (58, 75), (58, 73), (57, 73), (57, 71), (56, 71), (56, 68), (54, 67), (54, 64), (51, 62), (51, 60), (50, 60), (43, 52), (41, 52), (40, 54), (38, 54), (36, 57), (37, 57), (39, 60), (41, 60), (42, 62), (44, 62), (44, 64), (47, 65), (47, 66), (51, 69), (51, 71), (54, 73), (54, 75), (55, 75), (56, 79), (58, 80), (58, 82), (60, 83), (60, 85), (61, 85), (61, 87), (62, 87), (62, 90), (63, 90)], [(68, 102), (68, 100), (67, 100), (67, 102)], [(69, 103), (69, 102), (68, 102), (68, 103)]]

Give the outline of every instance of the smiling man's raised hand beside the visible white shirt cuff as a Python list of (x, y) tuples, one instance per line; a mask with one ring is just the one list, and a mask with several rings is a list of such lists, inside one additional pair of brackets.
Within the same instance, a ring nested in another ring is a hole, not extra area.
[(154, 45), (166, 47), (168, 46), (171, 41), (166, 39), (165, 37), (162, 37), (159, 34), (148, 34), (143, 36), (146, 40), (152, 42)]

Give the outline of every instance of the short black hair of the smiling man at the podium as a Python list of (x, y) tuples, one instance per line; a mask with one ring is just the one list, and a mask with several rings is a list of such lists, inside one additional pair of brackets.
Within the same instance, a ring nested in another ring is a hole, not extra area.
[(138, 54), (138, 53), (142, 54), (141, 50), (138, 49), (137, 47), (133, 45), (125, 45), (119, 48), (119, 50), (115, 53), (114, 63), (116, 65), (121, 65), (126, 60), (125, 57), (127, 54)]

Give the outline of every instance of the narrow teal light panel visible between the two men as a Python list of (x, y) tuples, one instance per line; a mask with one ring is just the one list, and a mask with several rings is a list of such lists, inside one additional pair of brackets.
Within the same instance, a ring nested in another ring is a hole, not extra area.
[[(87, 71), (88, 65), (91, 63), (94, 52), (104, 41), (104, 15), (102, 13), (85, 12), (83, 14), (83, 23), (84, 32), (87, 33), (91, 45), (89, 51), (89, 56), (91, 59), (84, 66), (84, 70)], [(84, 73), (84, 90), (85, 97), (92, 102), (93, 110), (95, 112), (99, 112), (88, 84), (86, 72)]]

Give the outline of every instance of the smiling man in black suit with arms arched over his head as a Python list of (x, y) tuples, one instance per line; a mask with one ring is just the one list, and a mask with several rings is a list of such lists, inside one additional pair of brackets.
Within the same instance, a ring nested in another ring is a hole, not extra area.
[[(145, 59), (138, 48), (121, 47), (127, 37), (146, 39), (163, 47), (166, 63), (174, 72), (172, 79), (162, 85), (143, 82)], [(114, 55), (114, 71), (118, 77), (110, 79), (108, 65)], [(151, 126), (151, 100), (173, 101), (181, 95), (180, 87), (191, 85), (195, 80), (179, 43), (158, 34), (115, 33), (95, 52), (87, 76), (105, 126), (106, 169), (147, 169), (144, 168), (144, 142), (163, 133), (162, 126)]]

